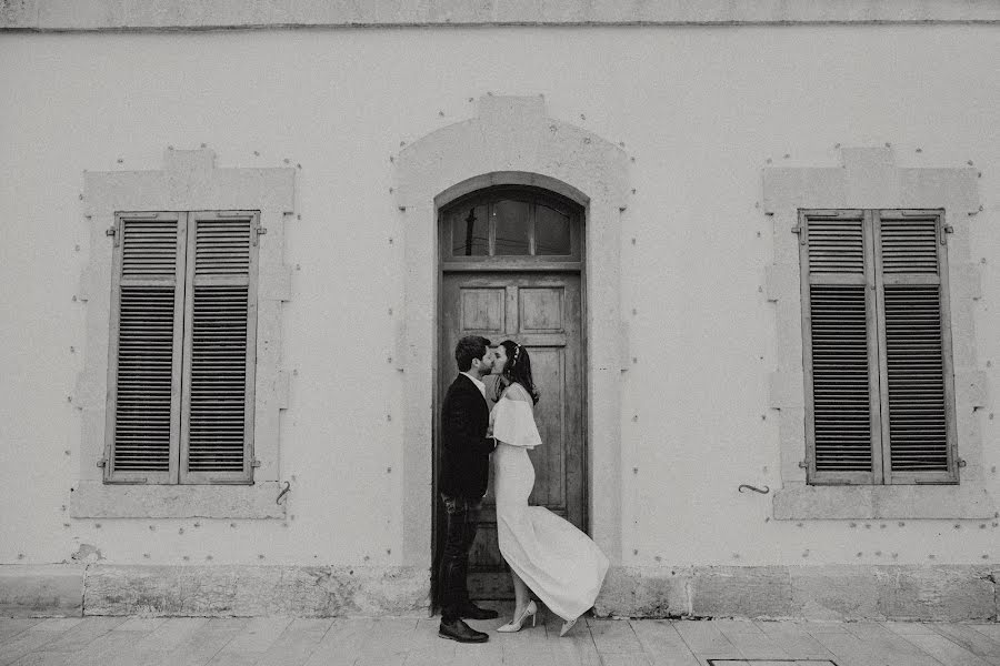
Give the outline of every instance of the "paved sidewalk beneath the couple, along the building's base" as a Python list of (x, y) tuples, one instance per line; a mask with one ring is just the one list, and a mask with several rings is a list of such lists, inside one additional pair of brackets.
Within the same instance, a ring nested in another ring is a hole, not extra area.
[(438, 618), (0, 619), (0, 665), (1000, 666), (1000, 624), (587, 619), (559, 638), (543, 613), (482, 645)]

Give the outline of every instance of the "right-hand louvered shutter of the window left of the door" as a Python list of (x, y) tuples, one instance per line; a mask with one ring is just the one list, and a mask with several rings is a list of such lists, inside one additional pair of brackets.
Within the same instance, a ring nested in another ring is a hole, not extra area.
[(252, 483), (259, 222), (189, 218), (181, 483)]

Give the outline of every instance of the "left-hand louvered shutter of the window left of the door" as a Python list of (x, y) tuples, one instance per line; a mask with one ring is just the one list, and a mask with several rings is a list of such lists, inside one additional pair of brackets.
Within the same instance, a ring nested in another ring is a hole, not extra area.
[(107, 482), (177, 481), (186, 220), (116, 215)]

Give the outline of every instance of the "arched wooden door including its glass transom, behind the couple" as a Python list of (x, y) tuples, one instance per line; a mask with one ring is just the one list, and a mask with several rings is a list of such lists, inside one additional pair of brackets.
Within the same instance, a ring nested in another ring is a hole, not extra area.
[[(586, 529), (583, 211), (543, 190), (491, 188), (442, 209), (440, 222), (439, 401), (458, 374), (453, 351), (461, 336), (524, 345), (541, 391), (536, 421), (543, 442), (529, 453), (536, 471), (530, 503)], [(496, 377), (487, 377), (490, 406), (494, 385)], [(439, 443), (434, 451), (437, 462)], [(436, 507), (437, 527), (440, 502)], [(469, 589), (480, 599), (513, 594), (497, 544), (492, 484), (470, 556)]]

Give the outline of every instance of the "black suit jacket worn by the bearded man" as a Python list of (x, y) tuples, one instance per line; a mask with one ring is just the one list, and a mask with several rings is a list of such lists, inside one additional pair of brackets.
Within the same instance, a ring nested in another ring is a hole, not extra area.
[(463, 374), (448, 387), (441, 404), (442, 464), (439, 490), (453, 497), (479, 500), (490, 475), (492, 438), (486, 433), (490, 408), (472, 380)]

